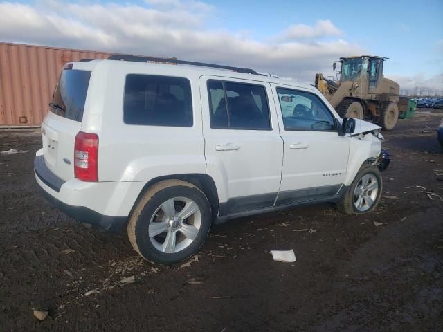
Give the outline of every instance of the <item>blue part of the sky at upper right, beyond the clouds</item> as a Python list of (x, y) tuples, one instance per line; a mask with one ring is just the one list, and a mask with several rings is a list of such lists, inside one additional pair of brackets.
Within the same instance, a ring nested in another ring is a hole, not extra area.
[[(208, 1), (215, 6), (217, 2)], [(330, 19), (347, 42), (363, 46), (371, 55), (389, 57), (387, 74), (431, 77), (443, 71), (442, 0), (272, 1), (260, 6), (255, 1), (222, 2), (217, 24), (233, 31), (248, 30), (255, 39), (266, 39), (289, 24)], [(254, 19), (245, 21), (247, 12), (260, 24)]]

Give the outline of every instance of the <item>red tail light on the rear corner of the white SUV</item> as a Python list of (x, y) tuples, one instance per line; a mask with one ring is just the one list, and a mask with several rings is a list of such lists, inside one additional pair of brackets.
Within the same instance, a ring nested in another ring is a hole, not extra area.
[(82, 181), (98, 181), (98, 135), (79, 131), (75, 136), (74, 174)]

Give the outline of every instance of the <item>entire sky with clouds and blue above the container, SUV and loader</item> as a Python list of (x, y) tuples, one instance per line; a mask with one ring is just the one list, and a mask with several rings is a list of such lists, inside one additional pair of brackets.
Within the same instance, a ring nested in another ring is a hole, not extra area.
[(443, 89), (443, 0), (0, 1), (0, 41), (177, 56), (310, 82), (340, 56), (389, 57), (402, 86)]

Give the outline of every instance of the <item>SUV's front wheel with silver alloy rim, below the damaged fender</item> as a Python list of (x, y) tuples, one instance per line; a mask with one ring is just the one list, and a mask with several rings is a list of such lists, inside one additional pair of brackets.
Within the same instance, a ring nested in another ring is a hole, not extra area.
[(338, 203), (338, 210), (345, 214), (363, 214), (374, 210), (379, 203), (382, 187), (379, 169), (374, 165), (363, 165)]

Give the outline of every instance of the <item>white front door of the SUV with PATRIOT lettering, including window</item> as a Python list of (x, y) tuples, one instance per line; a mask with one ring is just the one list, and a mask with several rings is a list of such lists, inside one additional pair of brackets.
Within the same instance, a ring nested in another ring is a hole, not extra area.
[(326, 199), (345, 179), (350, 141), (338, 136), (334, 115), (309, 89), (273, 84), (284, 141), (282, 183), (276, 205)]

